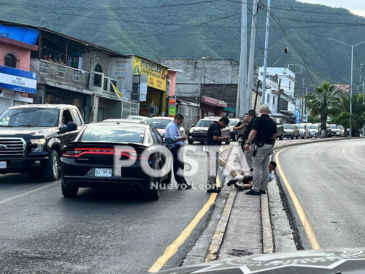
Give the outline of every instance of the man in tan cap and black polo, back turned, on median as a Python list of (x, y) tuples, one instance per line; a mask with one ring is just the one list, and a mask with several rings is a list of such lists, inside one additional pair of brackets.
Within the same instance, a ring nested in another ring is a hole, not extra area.
[(245, 193), (248, 195), (260, 195), (266, 191), (269, 183), (269, 160), (276, 141), (276, 123), (269, 116), (269, 105), (263, 104), (260, 113), (261, 116), (255, 119), (245, 145), (247, 150), (250, 143), (255, 140), (256, 155), (253, 156), (253, 183), (252, 189)]

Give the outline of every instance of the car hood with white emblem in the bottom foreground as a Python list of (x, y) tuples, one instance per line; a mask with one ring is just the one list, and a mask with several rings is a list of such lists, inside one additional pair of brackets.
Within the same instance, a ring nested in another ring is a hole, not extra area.
[(365, 248), (258, 254), (182, 266), (160, 274), (364, 274)]

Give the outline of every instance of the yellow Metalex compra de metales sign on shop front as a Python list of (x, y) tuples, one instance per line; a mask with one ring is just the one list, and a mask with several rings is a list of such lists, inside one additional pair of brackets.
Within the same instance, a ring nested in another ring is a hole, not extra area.
[(147, 86), (166, 91), (167, 68), (136, 56), (133, 59), (133, 72), (147, 74)]

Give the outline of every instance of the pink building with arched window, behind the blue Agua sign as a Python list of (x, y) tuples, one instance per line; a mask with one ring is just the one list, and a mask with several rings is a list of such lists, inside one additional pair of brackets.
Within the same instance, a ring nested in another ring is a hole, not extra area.
[[(38, 50), (38, 46), (17, 41), (6, 35), (0, 35), (0, 65), (10, 68), (30, 70), (30, 52)], [(5, 76), (3, 76), (4, 78)], [(13, 76), (14, 77), (14, 76)], [(5, 79), (3, 80), (5, 82)], [(0, 83), (3, 83), (0, 77)], [(10, 106), (32, 103), (27, 92), (0, 88), (0, 113)]]

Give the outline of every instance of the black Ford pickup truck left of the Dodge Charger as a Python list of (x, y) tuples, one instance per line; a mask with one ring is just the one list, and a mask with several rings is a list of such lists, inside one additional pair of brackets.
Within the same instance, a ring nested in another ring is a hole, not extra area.
[(84, 126), (76, 106), (9, 107), (0, 115), (0, 174), (31, 173), (47, 181), (56, 180), (63, 146)]

